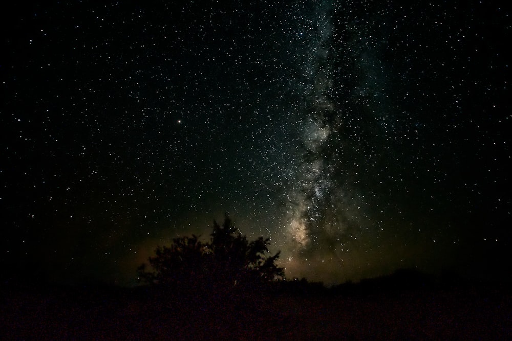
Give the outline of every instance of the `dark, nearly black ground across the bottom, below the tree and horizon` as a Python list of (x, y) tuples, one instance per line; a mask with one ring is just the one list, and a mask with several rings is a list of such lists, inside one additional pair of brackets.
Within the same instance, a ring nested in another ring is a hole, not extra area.
[(504, 285), (186, 291), (4, 287), (0, 339), (512, 339)]

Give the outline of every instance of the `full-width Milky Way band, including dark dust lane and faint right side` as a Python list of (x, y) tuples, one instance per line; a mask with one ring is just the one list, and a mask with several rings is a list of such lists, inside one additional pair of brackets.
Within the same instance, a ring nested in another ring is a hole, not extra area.
[[(302, 155), (294, 165), (296, 182), (287, 196), (289, 267), (296, 266), (294, 258), (298, 258), (301, 263), (311, 259), (334, 263), (334, 272), (345, 270), (346, 244), (370, 224), (357, 222), (354, 209), (366, 202), (364, 191), (354, 186), (362, 174), (350, 171), (358, 162), (372, 162), (373, 145), (380, 137), (358, 137), (351, 129), (366, 124), (366, 132), (360, 134), (368, 133), (377, 116), (386, 116), (376, 91), (381, 85), (374, 70), (376, 61), (368, 57), (379, 48), (370, 33), (377, 15), (358, 18), (347, 12), (347, 7), (324, 3), (304, 19), (311, 36), (303, 64)], [(371, 111), (369, 121), (365, 111)], [(369, 213), (361, 214), (368, 217)]]

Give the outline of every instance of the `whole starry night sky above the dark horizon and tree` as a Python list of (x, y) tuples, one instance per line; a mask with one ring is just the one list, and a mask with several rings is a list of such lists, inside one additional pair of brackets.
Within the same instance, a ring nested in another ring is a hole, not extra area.
[(509, 278), (510, 11), (488, 1), (3, 11), (0, 262), (135, 283), (228, 212), (288, 278)]

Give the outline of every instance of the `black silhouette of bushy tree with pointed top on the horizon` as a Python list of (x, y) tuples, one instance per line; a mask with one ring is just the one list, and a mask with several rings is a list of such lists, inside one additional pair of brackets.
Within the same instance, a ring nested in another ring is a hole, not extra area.
[(150, 284), (224, 287), (284, 279), (284, 269), (275, 264), (280, 253), (272, 256), (268, 250), (270, 238), (248, 241), (227, 214), (222, 225), (214, 221), (210, 236), (209, 243), (192, 235), (158, 246), (148, 259), (153, 271), (146, 271), (144, 263), (138, 268), (139, 278)]

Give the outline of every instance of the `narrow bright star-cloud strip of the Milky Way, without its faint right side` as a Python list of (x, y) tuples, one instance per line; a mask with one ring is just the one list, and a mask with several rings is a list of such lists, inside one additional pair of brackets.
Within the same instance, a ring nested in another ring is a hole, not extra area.
[[(329, 215), (329, 212), (340, 209), (336, 201), (341, 194), (338, 192), (342, 191), (331, 180), (334, 165), (329, 165), (329, 159), (336, 155), (327, 154), (327, 147), (332, 143), (330, 135), (339, 133), (333, 120), (334, 115), (339, 114), (335, 113), (330, 99), (333, 85), (330, 65), (333, 61), (329, 58), (329, 53), (333, 53), (329, 51), (331, 20), (331, 9), (324, 5), (314, 9), (303, 24), (311, 37), (304, 63), (304, 101), (299, 107), (304, 115), (301, 121), (302, 155), (294, 165), (296, 184), (287, 196), (288, 233), (301, 253), (311, 244), (318, 245), (317, 238), (325, 231), (343, 230), (343, 226), (336, 226), (335, 216)], [(303, 35), (303, 32), (299, 34)]]

